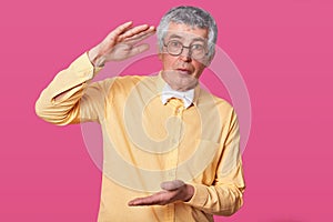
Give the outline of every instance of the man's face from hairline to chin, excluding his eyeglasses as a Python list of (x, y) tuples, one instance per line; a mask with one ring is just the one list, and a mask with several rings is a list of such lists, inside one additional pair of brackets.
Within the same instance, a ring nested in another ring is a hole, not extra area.
[(159, 53), (163, 63), (162, 78), (173, 90), (186, 91), (198, 84), (198, 80), (209, 61), (206, 56), (200, 60), (192, 59), (188, 47), (200, 44), (206, 49), (206, 39), (208, 29), (192, 28), (182, 23), (169, 23), (164, 44), (170, 41), (179, 41), (185, 47), (179, 56), (169, 54), (167, 47), (163, 47)]

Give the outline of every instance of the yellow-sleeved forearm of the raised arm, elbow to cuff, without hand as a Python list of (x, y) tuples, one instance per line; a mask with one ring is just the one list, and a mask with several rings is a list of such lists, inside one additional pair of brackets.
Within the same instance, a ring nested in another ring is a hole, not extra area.
[(78, 122), (80, 99), (95, 71), (87, 54), (82, 54), (42, 91), (36, 102), (36, 113), (53, 124)]

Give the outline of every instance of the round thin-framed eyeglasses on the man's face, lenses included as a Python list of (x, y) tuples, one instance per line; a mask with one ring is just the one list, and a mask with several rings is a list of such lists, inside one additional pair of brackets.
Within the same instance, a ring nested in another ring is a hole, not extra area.
[(164, 47), (167, 48), (168, 53), (173, 57), (180, 56), (184, 48), (189, 49), (189, 57), (192, 59), (200, 60), (208, 56), (204, 44), (190, 44), (189, 47), (185, 47), (178, 40), (171, 40), (167, 44), (164, 43)]

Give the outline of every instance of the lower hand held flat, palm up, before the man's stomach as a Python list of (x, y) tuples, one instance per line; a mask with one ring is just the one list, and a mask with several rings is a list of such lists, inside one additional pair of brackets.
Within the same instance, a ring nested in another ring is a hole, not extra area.
[(181, 180), (167, 181), (161, 183), (162, 191), (145, 198), (137, 198), (128, 204), (135, 205), (165, 205), (175, 201), (189, 201), (194, 194), (193, 185)]

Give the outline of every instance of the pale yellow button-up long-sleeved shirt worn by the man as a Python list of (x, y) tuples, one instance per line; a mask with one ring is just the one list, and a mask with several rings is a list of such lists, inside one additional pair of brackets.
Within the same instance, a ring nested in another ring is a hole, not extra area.
[[(99, 221), (213, 221), (243, 204), (242, 160), (236, 114), (224, 100), (194, 89), (193, 104), (161, 101), (161, 75), (90, 81), (100, 69), (87, 53), (59, 72), (42, 91), (36, 112), (59, 124), (99, 122), (103, 176)], [(128, 206), (160, 191), (162, 181), (194, 186), (188, 202)]]

